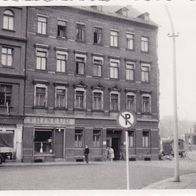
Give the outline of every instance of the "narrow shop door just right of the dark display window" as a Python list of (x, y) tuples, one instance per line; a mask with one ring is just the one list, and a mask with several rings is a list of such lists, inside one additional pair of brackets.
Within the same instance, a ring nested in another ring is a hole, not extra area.
[(63, 158), (64, 129), (56, 129), (55, 132), (55, 158)]

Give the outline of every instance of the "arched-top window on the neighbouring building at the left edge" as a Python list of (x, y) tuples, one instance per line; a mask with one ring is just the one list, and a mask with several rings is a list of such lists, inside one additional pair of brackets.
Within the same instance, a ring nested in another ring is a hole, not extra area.
[(3, 12), (3, 29), (14, 30), (14, 13), (10, 10)]

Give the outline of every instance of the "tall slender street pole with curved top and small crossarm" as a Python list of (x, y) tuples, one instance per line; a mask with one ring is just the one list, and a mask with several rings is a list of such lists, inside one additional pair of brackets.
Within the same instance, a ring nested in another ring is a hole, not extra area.
[(174, 169), (174, 181), (180, 182), (179, 176), (179, 160), (178, 160), (178, 113), (177, 113), (177, 77), (176, 77), (176, 37), (178, 34), (175, 34), (173, 21), (167, 6), (166, 11), (169, 17), (172, 34), (168, 35), (172, 38), (173, 41), (173, 110), (174, 110), (174, 160), (175, 160), (175, 169)]

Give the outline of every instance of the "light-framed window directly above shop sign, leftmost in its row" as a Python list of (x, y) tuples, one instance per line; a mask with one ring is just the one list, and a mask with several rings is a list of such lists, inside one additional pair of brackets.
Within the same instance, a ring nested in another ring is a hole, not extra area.
[(34, 105), (36, 107), (47, 106), (47, 86), (45, 84), (35, 85)]

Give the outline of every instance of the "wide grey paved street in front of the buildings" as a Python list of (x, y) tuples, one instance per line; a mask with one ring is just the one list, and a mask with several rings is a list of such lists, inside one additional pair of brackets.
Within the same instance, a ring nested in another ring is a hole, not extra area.
[[(173, 177), (173, 161), (130, 162), (130, 189)], [(196, 171), (195, 161), (180, 160), (180, 174)], [(126, 189), (125, 161), (61, 165), (0, 166), (1, 190)]]

